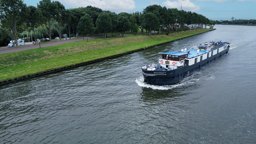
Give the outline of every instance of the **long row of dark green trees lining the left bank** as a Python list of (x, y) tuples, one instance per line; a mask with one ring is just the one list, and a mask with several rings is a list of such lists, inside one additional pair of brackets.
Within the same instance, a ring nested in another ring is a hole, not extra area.
[[(169, 34), (197, 28), (206, 28), (214, 24), (201, 14), (186, 12), (177, 8), (166, 8), (160, 5), (150, 5), (143, 12), (125, 13), (103, 11), (100, 8), (87, 6), (66, 9), (59, 1), (41, 0), (37, 7), (27, 6), (22, 0), (0, 1), (0, 44), (7, 39), (16, 40), (24, 30), (33, 31), (36, 42), (39, 30), (52, 40), (52, 36), (61, 37), (61, 33), (68, 36), (81, 34), (104, 34), (126, 31), (136, 35), (140, 29), (143, 33), (156, 31)], [(37, 36), (36, 36), (37, 31)], [(53, 31), (53, 32), (52, 32)], [(40, 34), (41, 34), (40, 33)], [(32, 34), (31, 34), (32, 35)], [(88, 39), (87, 39), (88, 40)]]

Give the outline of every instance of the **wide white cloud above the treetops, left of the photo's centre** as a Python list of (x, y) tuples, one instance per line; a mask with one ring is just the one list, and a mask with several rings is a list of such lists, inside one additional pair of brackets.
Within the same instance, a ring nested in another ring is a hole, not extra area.
[(88, 5), (98, 7), (102, 10), (123, 12), (135, 8), (134, 0), (59, 0), (69, 7), (86, 7)]

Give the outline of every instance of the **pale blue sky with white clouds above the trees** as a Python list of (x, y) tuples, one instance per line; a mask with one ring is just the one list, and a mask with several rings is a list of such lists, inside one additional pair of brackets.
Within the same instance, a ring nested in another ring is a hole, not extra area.
[[(23, 0), (25, 4), (37, 6), (40, 0)], [(54, 0), (57, 1), (57, 0)], [(256, 20), (256, 0), (58, 0), (66, 9), (98, 7), (111, 12), (143, 12), (153, 4), (166, 8), (177, 8), (184, 11), (202, 14), (210, 20)]]

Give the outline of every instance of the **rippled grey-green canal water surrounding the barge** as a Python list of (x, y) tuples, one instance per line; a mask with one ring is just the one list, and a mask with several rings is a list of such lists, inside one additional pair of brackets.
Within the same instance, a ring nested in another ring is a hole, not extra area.
[[(255, 26), (216, 30), (0, 87), (0, 143), (255, 143)], [(179, 84), (143, 83), (158, 52), (221, 39), (227, 55)]]

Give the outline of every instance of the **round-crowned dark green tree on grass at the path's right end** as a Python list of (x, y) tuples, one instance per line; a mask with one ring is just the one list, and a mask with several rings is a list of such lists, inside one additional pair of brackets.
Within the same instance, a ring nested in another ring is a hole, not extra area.
[(88, 34), (92, 34), (94, 32), (94, 25), (93, 25), (93, 20), (89, 14), (85, 14), (82, 16), (80, 19), (77, 30), (79, 33), (82, 35), (86, 35), (86, 39), (88, 42)]

